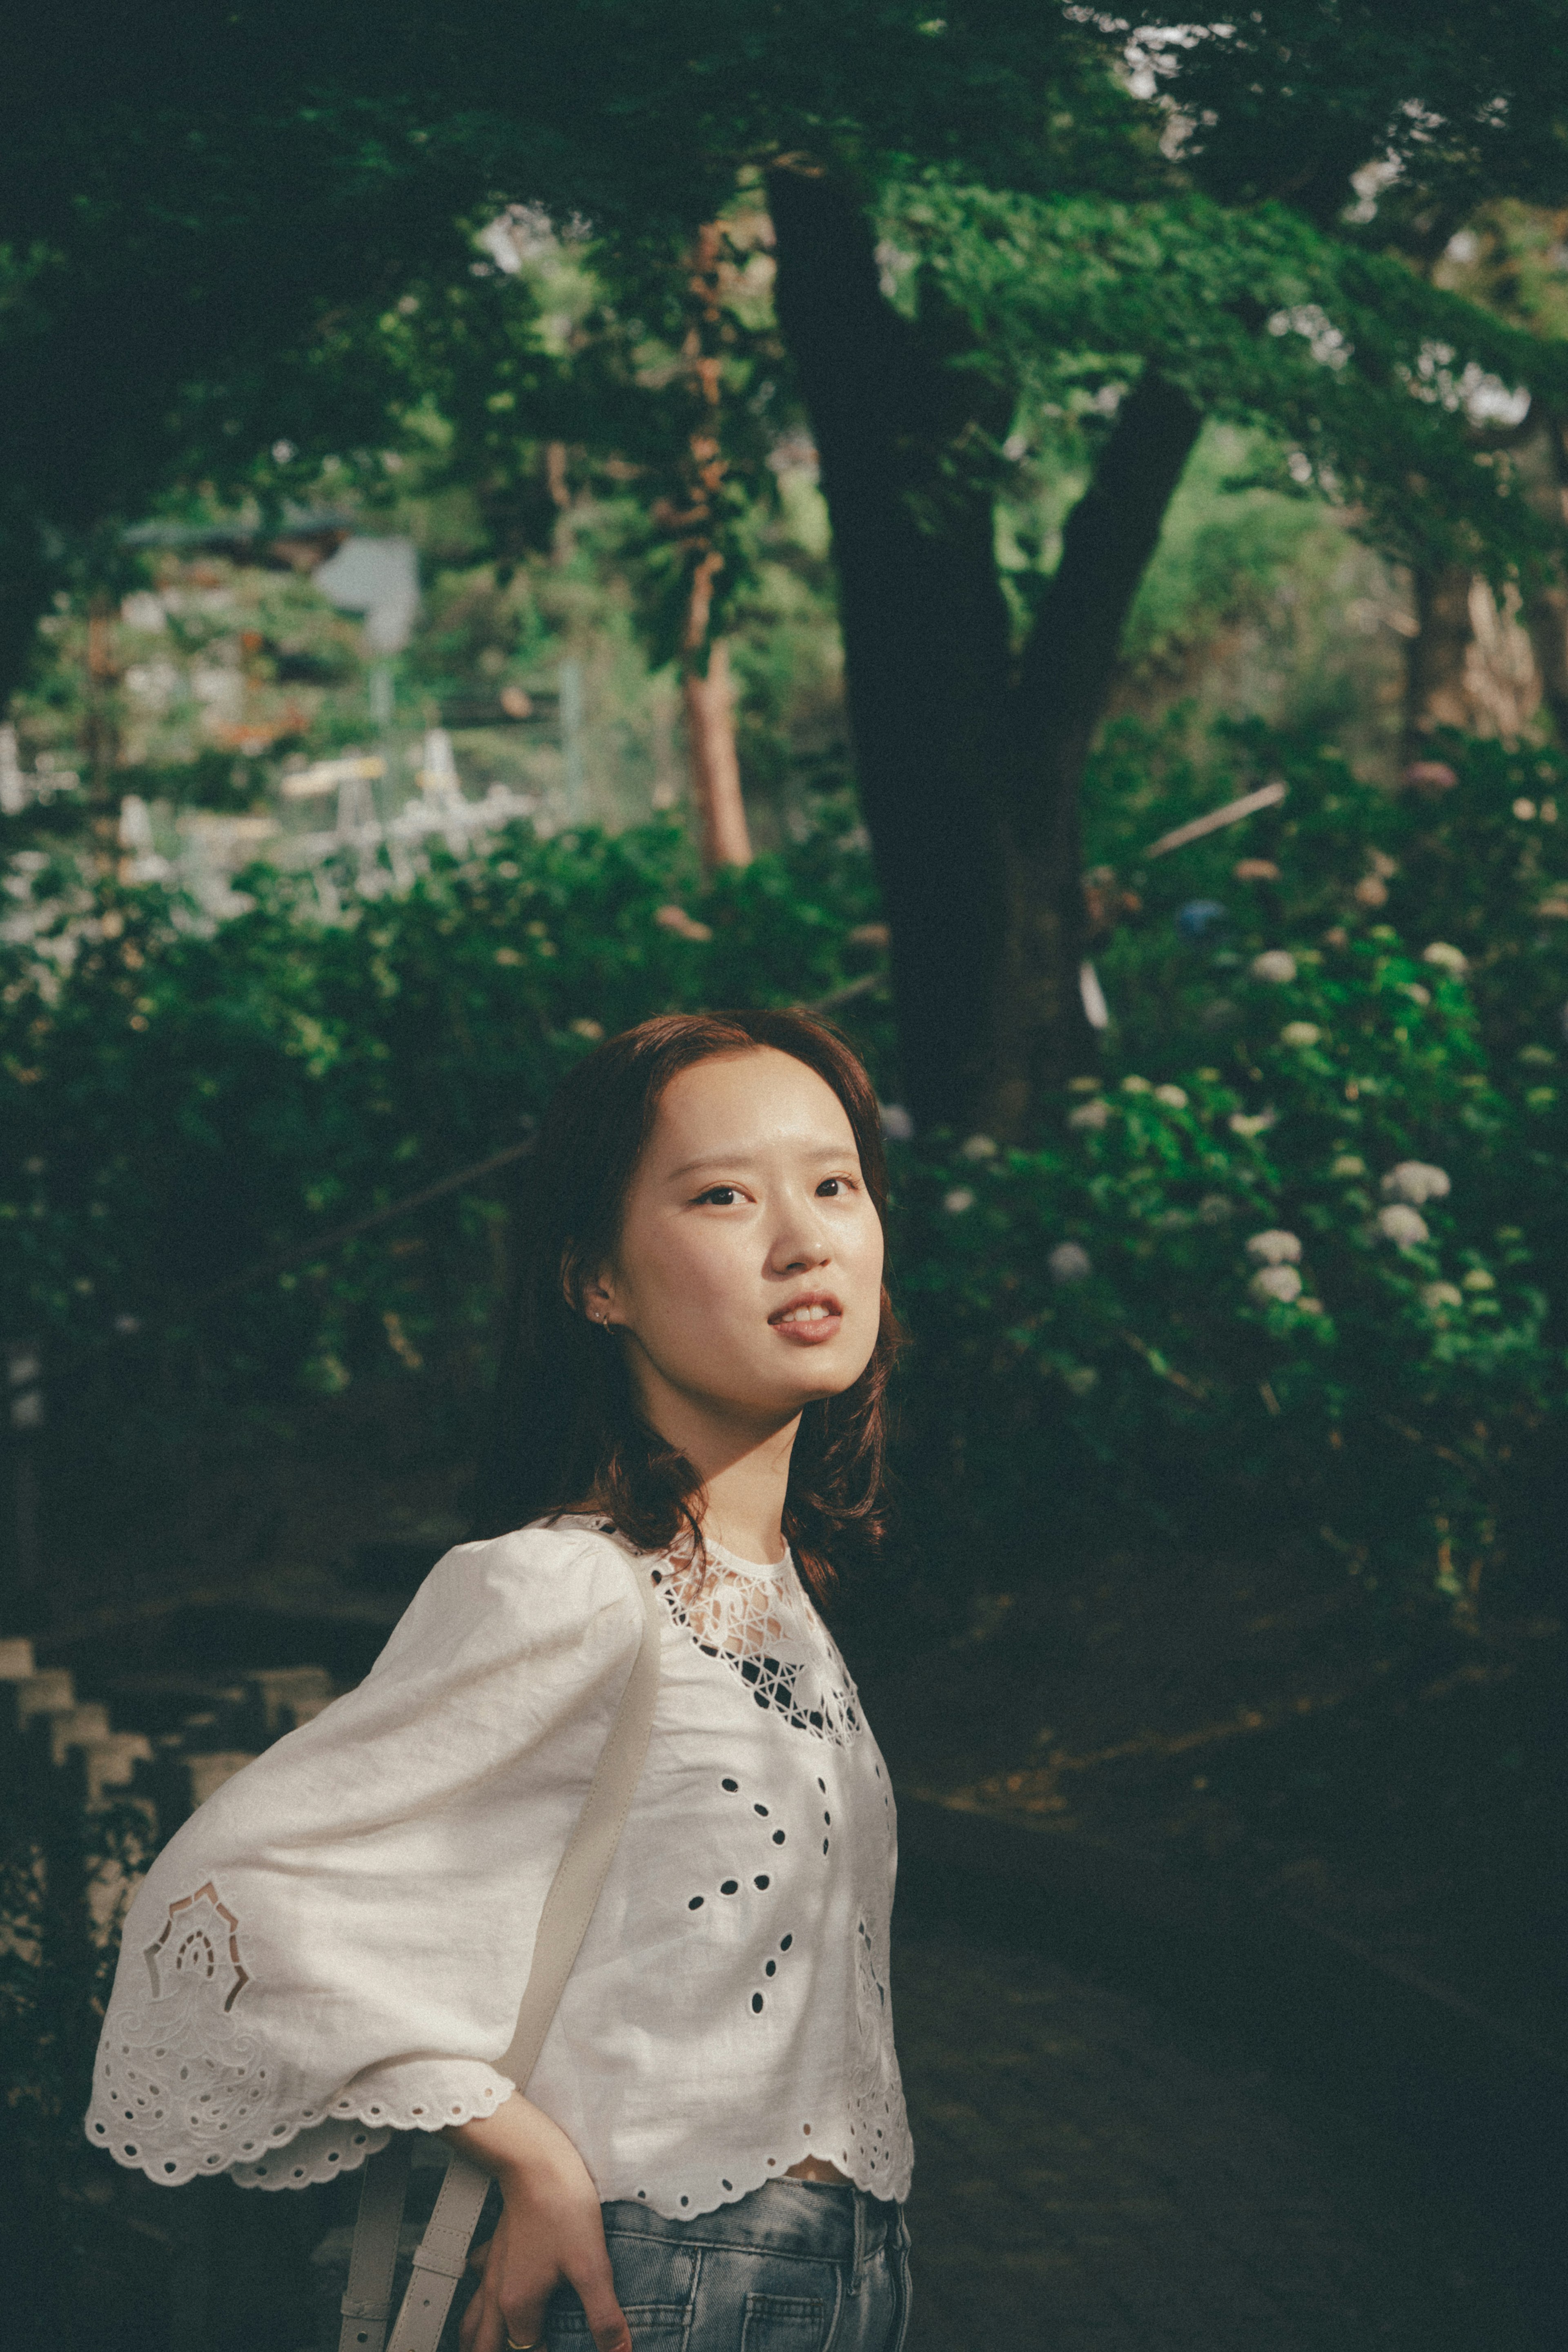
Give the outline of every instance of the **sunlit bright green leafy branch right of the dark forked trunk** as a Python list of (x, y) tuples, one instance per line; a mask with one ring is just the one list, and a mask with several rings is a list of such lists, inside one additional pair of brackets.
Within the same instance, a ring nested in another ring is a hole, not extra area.
[(1276, 482), (1354, 503), (1403, 560), (1502, 574), (1549, 557), (1556, 534), (1507, 454), (1467, 433), (1467, 407), (1519, 383), (1561, 407), (1568, 362), (1401, 259), (1284, 202), (1234, 212), (1197, 191), (1046, 200), (929, 174), (889, 214), (919, 278), (969, 318), (966, 365), (1011, 376), (1025, 414), (1091, 428), (1150, 365), (1204, 414), (1267, 428)]

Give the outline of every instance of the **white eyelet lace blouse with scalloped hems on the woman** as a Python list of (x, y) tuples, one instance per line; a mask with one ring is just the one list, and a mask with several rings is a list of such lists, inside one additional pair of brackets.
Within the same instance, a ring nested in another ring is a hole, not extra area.
[(820, 2157), (903, 2199), (896, 1818), (785, 1552), (604, 1519), (463, 1543), (367, 1679), (228, 1780), (132, 1905), (87, 2138), (303, 2187), (491, 2114), (545, 1891), (668, 1604), (649, 1757), (529, 2098), (602, 2199), (689, 2218)]

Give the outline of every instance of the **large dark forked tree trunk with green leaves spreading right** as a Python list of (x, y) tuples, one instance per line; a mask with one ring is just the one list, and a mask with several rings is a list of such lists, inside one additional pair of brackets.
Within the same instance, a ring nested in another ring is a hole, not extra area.
[[(1204, 416), (1262, 423), (1281, 459), (1295, 442), (1298, 480), (1354, 501), (1422, 579), (1460, 557), (1493, 576), (1549, 564), (1552, 532), (1469, 412), (1521, 381), (1554, 405), (1563, 355), (1500, 336), (1401, 249), (1413, 223), (1450, 233), (1497, 186), (1561, 183), (1544, 19), (1481, 16), (1410, 28), (1291, 5), (1145, 45), (1133, 61), (1150, 92), (1166, 68), (1171, 115), (1168, 169), (1140, 158), (1140, 202), (952, 174), (893, 202), (884, 188), (884, 221), (919, 256), (903, 313), (849, 179), (771, 174), (778, 308), (823, 445), (860, 783), (929, 1120), (1016, 1134), (1086, 1058), (1077, 795)], [(1368, 162), (1396, 191), (1382, 226), (1356, 186)], [(1020, 409), (1060, 412), (1074, 369), (1114, 423), (1011, 630), (994, 454)]]

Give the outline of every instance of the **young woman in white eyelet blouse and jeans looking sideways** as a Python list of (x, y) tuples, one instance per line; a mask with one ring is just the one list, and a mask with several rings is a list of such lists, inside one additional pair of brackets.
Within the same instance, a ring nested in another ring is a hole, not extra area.
[[(465, 2352), (898, 2352), (893, 1797), (813, 1595), (877, 1534), (896, 1324), (865, 1070), (670, 1014), (559, 1089), (487, 1524), (132, 1907), (87, 2136), (296, 2187), (390, 2129), (501, 2183)], [(527, 2084), (541, 1905), (663, 1599), (616, 1858)], [(527, 2093), (527, 2096), (524, 2096)]]

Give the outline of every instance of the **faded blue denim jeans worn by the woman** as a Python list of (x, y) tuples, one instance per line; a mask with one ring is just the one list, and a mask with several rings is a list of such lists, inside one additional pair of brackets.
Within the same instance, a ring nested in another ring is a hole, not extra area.
[[(632, 2352), (903, 2352), (910, 2232), (863, 2190), (769, 2180), (696, 2220), (607, 2204), (604, 2237)], [(545, 2343), (590, 2345), (571, 2286), (550, 2298)]]

